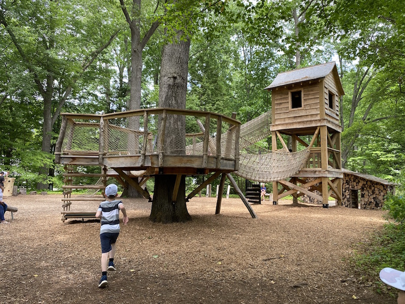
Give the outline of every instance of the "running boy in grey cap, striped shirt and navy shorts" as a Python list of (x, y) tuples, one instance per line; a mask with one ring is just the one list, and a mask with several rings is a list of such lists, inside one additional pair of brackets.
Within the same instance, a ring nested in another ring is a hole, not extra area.
[[(97, 209), (96, 217), (101, 218), (100, 241), (101, 241), (101, 279), (98, 287), (105, 287), (108, 270), (114, 271), (115, 242), (119, 235), (119, 210), (123, 212), (123, 222), (128, 223), (128, 215), (123, 202), (116, 200), (118, 188), (115, 184), (105, 187), (106, 200)], [(109, 256), (109, 260), (108, 260)]]

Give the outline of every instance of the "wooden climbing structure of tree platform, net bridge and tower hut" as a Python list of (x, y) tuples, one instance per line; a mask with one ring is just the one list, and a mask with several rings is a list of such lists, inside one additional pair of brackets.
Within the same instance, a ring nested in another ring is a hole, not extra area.
[[(218, 113), (172, 108), (105, 115), (62, 113), (56, 162), (110, 168), (121, 184), (131, 184), (149, 200), (139, 176), (175, 174), (180, 180), (182, 175), (212, 173), (188, 200), (221, 174), (220, 191), (227, 176), (239, 193), (229, 174), (235, 172), (250, 180), (273, 182), (273, 204), (287, 195), (293, 195), (295, 202), (308, 195), (325, 207), (329, 197), (340, 202), (339, 97), (344, 92), (335, 63), (280, 73), (266, 89), (272, 91), (271, 111), (244, 125)], [(177, 124), (176, 132), (167, 122)], [(255, 144), (269, 136), (271, 150)], [(173, 189), (173, 201), (177, 193), (178, 188)]]

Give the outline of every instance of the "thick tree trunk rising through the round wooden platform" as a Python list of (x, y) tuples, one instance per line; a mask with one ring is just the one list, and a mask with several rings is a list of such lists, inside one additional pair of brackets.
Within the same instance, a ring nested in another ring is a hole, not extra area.
[[(159, 107), (186, 107), (188, 56), (190, 41), (178, 41), (164, 47), (161, 59)], [(159, 122), (160, 124), (160, 122)], [(158, 136), (163, 136), (159, 134)], [(175, 139), (175, 140), (174, 140)], [(184, 153), (185, 117), (168, 116), (165, 132), (165, 153)], [(156, 175), (152, 210), (154, 222), (184, 222), (191, 220), (185, 200), (185, 176), (182, 176), (176, 201), (172, 201), (176, 175)]]

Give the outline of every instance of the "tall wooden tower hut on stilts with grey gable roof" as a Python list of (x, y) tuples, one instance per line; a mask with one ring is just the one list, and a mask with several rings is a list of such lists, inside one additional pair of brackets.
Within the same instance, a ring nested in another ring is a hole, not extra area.
[(273, 182), (273, 204), (288, 195), (293, 195), (295, 202), (308, 195), (325, 208), (329, 197), (341, 204), (339, 98), (344, 91), (335, 62), (281, 72), (265, 90), (272, 95), (272, 150), (279, 149), (277, 142), (290, 152), (300, 145), (310, 149), (300, 172)]

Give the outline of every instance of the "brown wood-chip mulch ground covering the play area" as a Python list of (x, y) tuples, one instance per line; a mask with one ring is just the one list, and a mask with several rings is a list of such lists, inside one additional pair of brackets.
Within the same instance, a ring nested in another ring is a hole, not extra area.
[[(61, 221), (61, 195), (5, 197), (18, 207), (0, 225), (0, 302), (8, 303), (396, 303), (377, 294), (348, 259), (384, 224), (383, 211), (253, 205), (239, 199), (187, 204), (193, 220), (148, 220), (151, 203), (123, 199), (108, 286), (97, 287), (100, 223)], [(71, 210), (96, 210), (73, 202)], [(122, 215), (121, 215), (122, 217)], [(376, 278), (378, 280), (378, 278)]]

